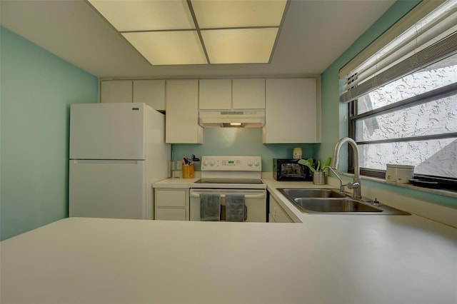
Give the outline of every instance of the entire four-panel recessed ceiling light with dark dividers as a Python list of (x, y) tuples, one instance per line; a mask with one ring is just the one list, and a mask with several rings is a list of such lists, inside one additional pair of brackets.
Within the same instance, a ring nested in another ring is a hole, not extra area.
[(290, 0), (86, 0), (152, 65), (267, 64)]

